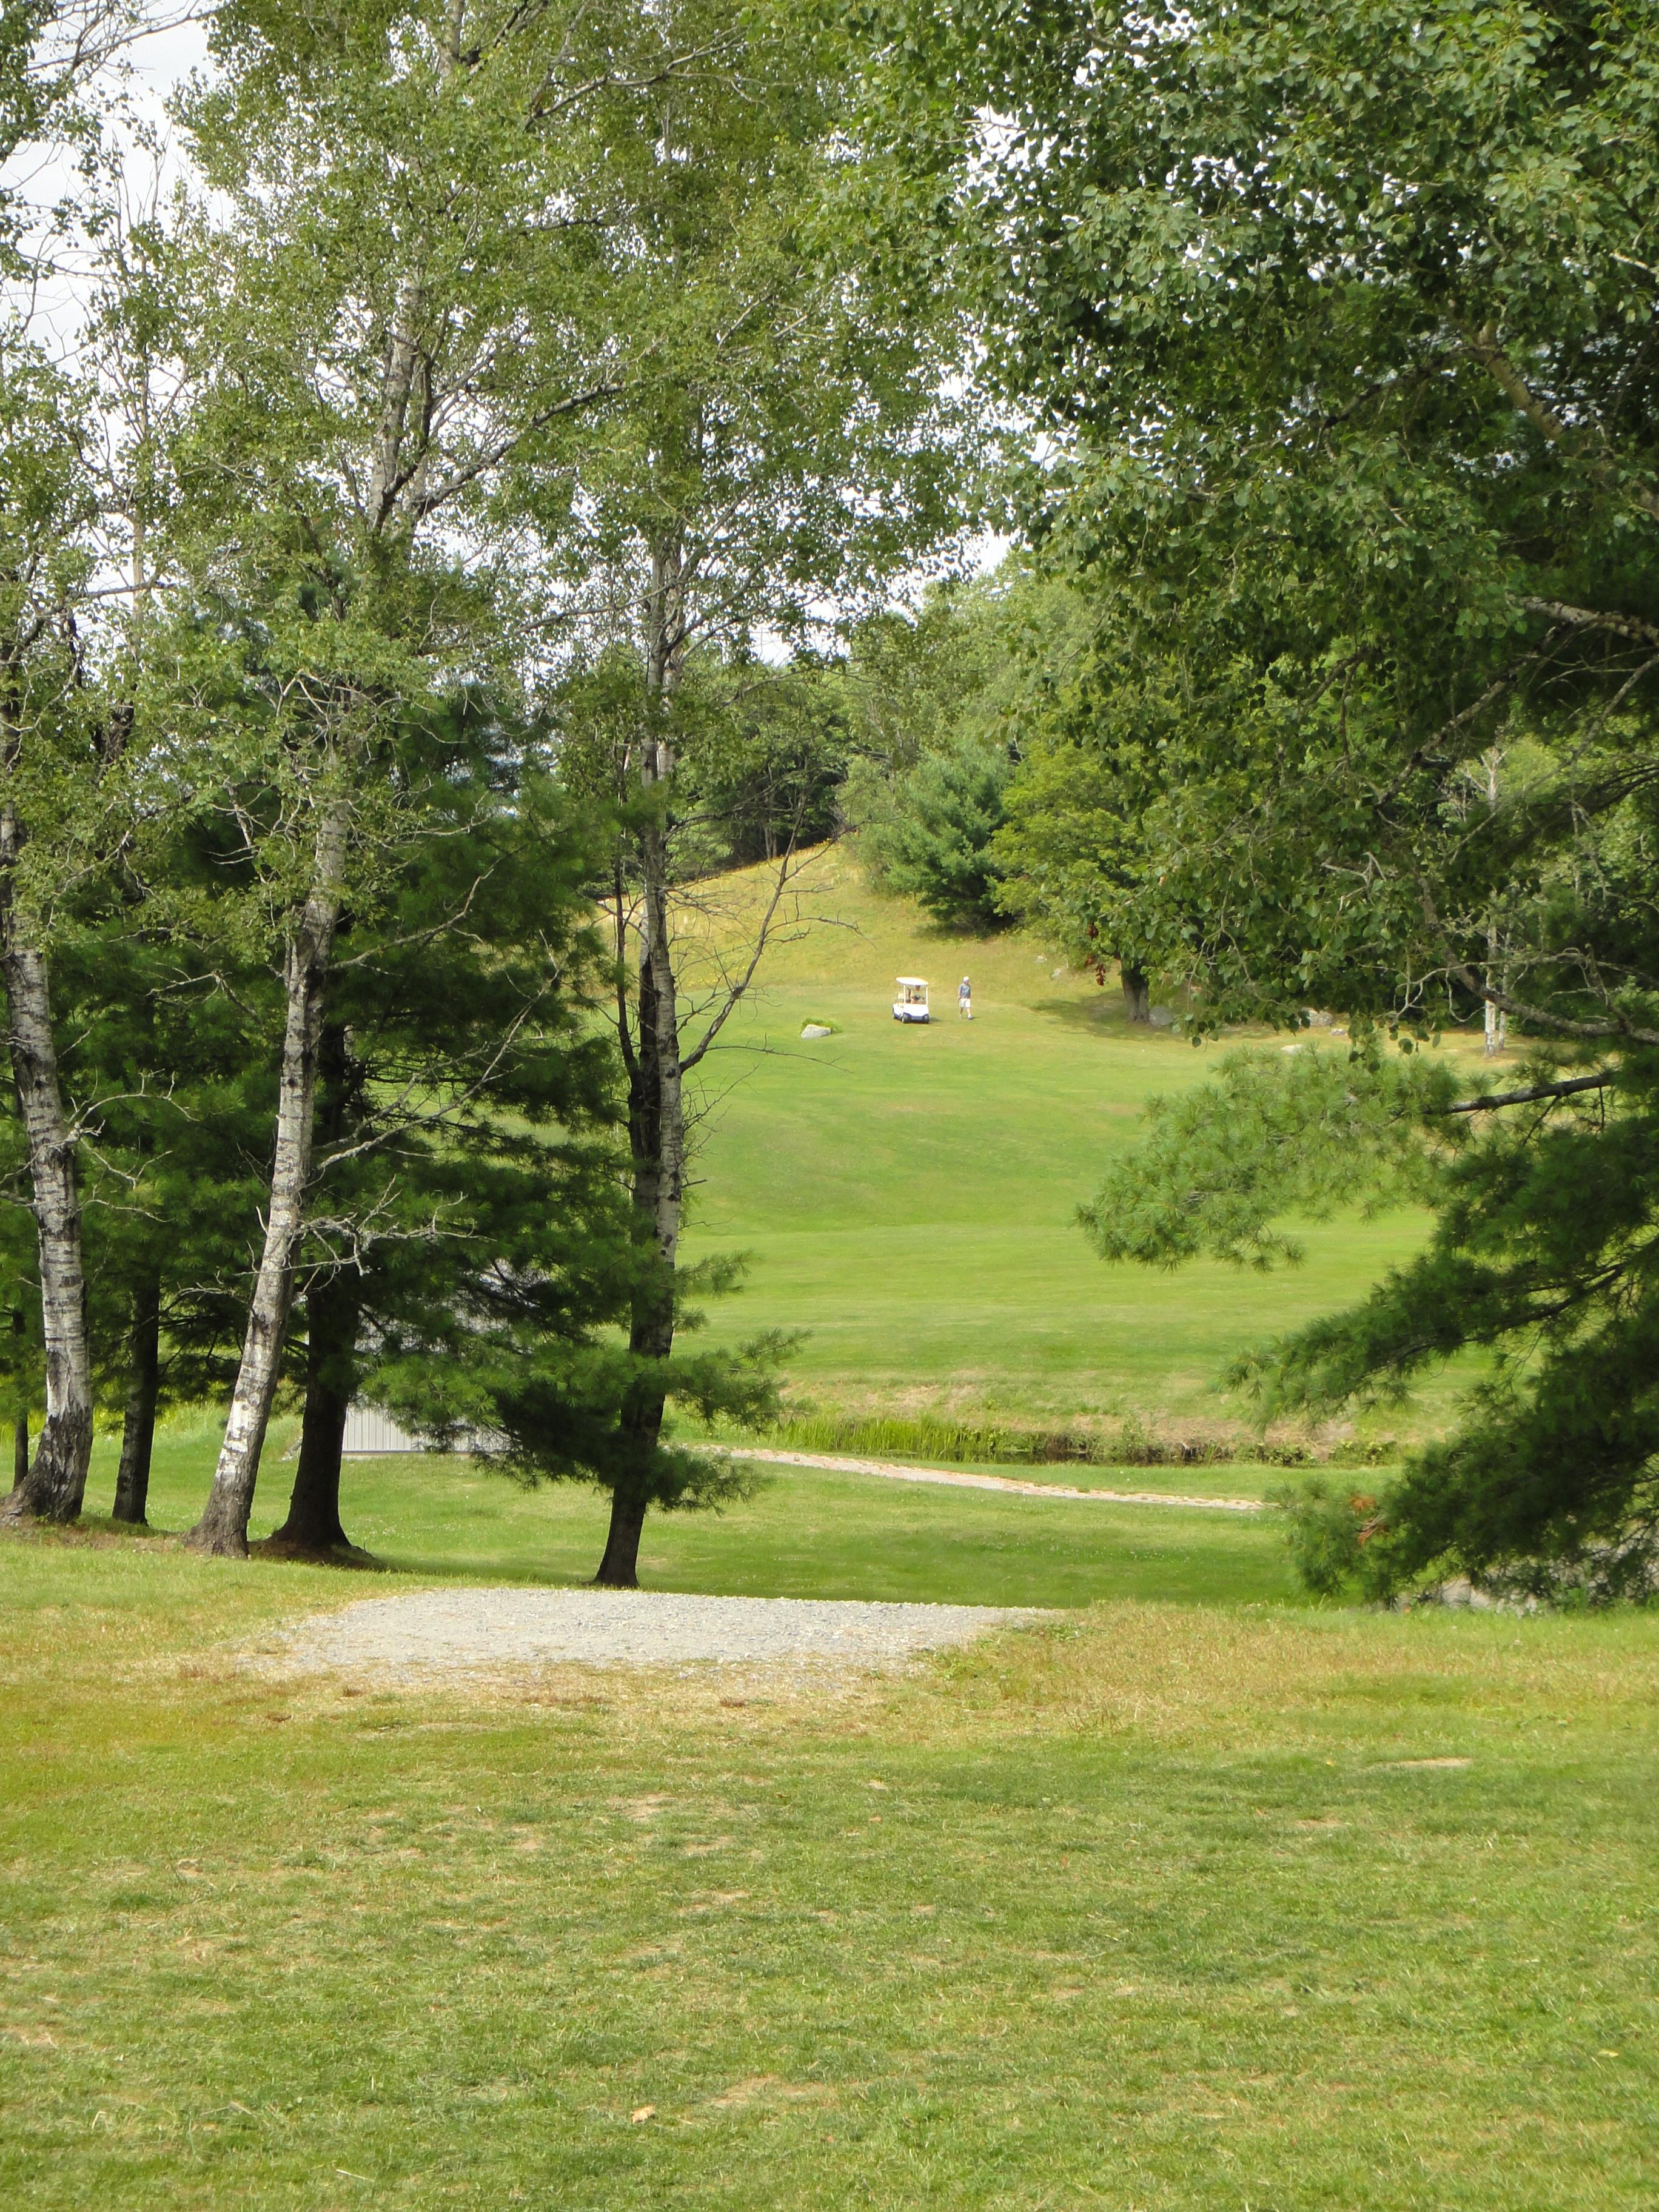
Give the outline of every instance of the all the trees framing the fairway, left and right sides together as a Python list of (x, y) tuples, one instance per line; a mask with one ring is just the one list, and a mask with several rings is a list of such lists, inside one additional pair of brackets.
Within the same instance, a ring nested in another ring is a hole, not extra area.
[[(726, 1480), (666, 1402), (765, 1405), (768, 1347), (679, 1345), (686, 1082), (847, 807), (1141, 1018), (1347, 1015), (1336, 1075), (1228, 1068), (1088, 1223), (1272, 1261), (1287, 1206), (1431, 1199), (1252, 1369), (1332, 1407), (1493, 1354), (1352, 1564), (1650, 1555), (1641, 11), (230, 0), (144, 204), (77, 93), (119, 31), (33, 0), (0, 44), (7, 150), (77, 146), (44, 243), (4, 204), (13, 288), (95, 272), (73, 361), (18, 312), (0, 378), (18, 1511), (77, 1509), (97, 1389), (135, 1495), (144, 1405), (221, 1363), (234, 1551), (283, 1363), (325, 1475), (367, 1360), (608, 1482), (628, 1579)], [(969, 358), (1031, 560), (827, 668), (814, 619), (962, 524)], [(692, 991), (686, 878), (754, 856)], [(1506, 1091), (1413, 1053), (1471, 1020), (1524, 1033)]]

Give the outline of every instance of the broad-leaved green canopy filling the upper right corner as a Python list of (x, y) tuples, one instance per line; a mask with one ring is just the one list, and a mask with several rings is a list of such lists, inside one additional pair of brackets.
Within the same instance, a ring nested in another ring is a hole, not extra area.
[(1095, 615), (1011, 799), (1033, 907), (1206, 1020), (1500, 989), (1655, 1031), (1648, 18), (914, 31), (922, 113), (949, 82), (1006, 119), (964, 272)]

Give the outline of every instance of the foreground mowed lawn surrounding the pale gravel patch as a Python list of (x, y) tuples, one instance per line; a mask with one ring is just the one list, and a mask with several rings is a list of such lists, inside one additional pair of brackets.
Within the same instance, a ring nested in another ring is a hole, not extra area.
[[(562, 1571), (482, 1500), (440, 1557), (416, 1493), (465, 1475), (405, 1475), (354, 1471), (349, 1517), (422, 1579)], [(878, 1489), (792, 1495), (827, 1531)], [(0, 1544), (2, 2203), (1659, 2194), (1655, 1619), (1117, 1597), (843, 1683), (239, 1663), (396, 1586)]]

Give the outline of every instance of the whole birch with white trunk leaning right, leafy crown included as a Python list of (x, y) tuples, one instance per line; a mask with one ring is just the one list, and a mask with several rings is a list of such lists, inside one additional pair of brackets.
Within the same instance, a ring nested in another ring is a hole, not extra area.
[[(197, 241), (228, 307), (195, 458), (195, 588), (201, 608), (257, 628), (243, 734), (259, 732), (252, 781), (274, 805), (248, 814), (248, 845), (288, 1006), (243, 1358), (190, 1537), (201, 1551), (246, 1548), (341, 914), (418, 834), (387, 734), (409, 706), (511, 659), (482, 577), (484, 500), (509, 460), (562, 476), (562, 436), (615, 385), (584, 290), (588, 241), (560, 212), (562, 119), (613, 69), (584, 24), (451, 0), (321, 27), (234, 9), (223, 80), (188, 108), (201, 173), (234, 210)], [(246, 765), (232, 743), (215, 770), (226, 792)]]

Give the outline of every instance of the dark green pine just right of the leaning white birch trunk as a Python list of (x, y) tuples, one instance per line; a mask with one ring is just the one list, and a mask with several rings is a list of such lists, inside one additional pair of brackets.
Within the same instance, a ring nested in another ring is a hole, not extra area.
[(476, 1394), (491, 1285), (533, 1305), (562, 1349), (626, 1307), (615, 1055), (591, 1020), (593, 856), (582, 816), (526, 781), (518, 752), (487, 699), (405, 739), (427, 834), (330, 980), (301, 1261), (305, 1418), (268, 1553), (349, 1548), (341, 1449), (358, 1389), (411, 1389), (398, 1407), (420, 1436), (498, 1427)]

